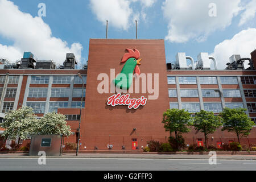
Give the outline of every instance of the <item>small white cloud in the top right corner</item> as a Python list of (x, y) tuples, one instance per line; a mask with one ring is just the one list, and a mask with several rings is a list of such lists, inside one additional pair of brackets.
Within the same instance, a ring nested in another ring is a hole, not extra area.
[(241, 19), (239, 22), (239, 26), (242, 26), (245, 24), (248, 20), (251, 20), (254, 18), (256, 13), (256, 0), (251, 0), (247, 5), (245, 6), (245, 11), (241, 14)]

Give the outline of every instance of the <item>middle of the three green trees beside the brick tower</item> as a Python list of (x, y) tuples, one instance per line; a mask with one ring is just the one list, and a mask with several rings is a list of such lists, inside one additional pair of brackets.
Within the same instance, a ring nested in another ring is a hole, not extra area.
[(193, 127), (195, 127), (197, 131), (204, 133), (205, 148), (207, 148), (208, 134), (214, 133), (221, 125), (221, 118), (214, 115), (213, 112), (201, 110), (195, 113), (195, 117), (193, 118)]

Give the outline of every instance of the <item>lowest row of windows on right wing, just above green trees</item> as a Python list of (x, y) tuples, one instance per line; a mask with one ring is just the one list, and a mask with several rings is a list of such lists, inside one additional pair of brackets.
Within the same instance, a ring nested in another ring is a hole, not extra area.
[[(256, 106), (255, 103), (251, 103), (250, 105), (254, 106), (254, 111), (249, 110), (250, 113), (256, 113)], [(248, 105), (247, 105), (248, 106)], [(226, 107), (230, 109), (234, 108), (243, 108), (242, 103), (226, 103)], [(176, 102), (170, 102), (170, 108), (171, 109), (179, 109), (179, 105)], [(188, 110), (189, 113), (196, 113), (200, 111), (200, 103), (181, 103), (181, 109)], [(221, 103), (204, 103), (204, 110), (206, 111), (213, 111), (214, 113), (220, 113), (222, 111), (222, 105)]]

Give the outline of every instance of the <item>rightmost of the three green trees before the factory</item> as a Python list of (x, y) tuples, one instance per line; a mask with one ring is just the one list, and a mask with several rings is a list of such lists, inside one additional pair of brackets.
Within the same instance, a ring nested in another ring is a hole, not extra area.
[(238, 143), (240, 143), (240, 137), (246, 137), (250, 134), (253, 128), (254, 122), (245, 113), (246, 109), (229, 109), (225, 108), (220, 116), (223, 121), (222, 131), (227, 130), (237, 135)]

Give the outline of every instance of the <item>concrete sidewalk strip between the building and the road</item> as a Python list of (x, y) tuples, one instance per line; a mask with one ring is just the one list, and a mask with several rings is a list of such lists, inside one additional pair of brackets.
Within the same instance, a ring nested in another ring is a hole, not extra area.
[[(1, 158), (38, 158), (28, 154), (0, 154)], [(128, 159), (209, 159), (209, 155), (170, 155), (170, 154), (63, 154), (63, 156), (48, 156), (47, 158), (128, 158)], [(256, 155), (217, 155), (217, 159), (256, 160)]]

